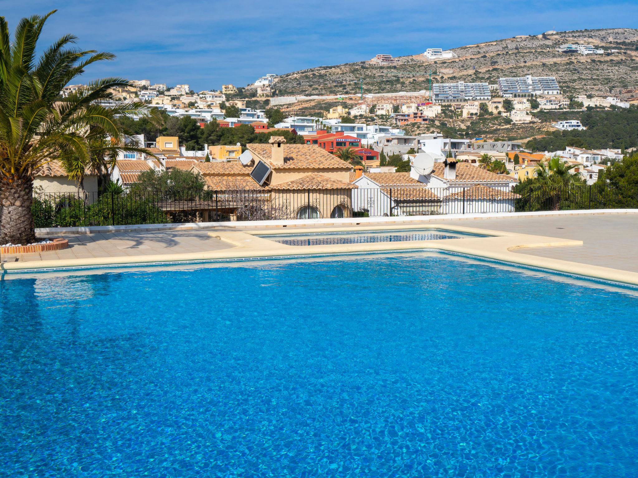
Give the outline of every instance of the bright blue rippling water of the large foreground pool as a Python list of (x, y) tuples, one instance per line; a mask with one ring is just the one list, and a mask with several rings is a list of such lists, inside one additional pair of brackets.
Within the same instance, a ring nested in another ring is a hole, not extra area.
[(3, 477), (638, 475), (638, 298), (414, 253), (0, 282)]

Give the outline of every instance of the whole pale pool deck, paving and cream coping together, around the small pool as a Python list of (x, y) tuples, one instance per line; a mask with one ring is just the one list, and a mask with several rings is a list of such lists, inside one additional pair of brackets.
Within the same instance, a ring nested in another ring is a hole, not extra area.
[[(167, 231), (120, 231), (115, 233), (91, 233), (91, 234), (63, 234), (49, 233), (50, 237), (68, 238), (70, 248), (66, 250), (41, 252), (39, 254), (22, 254), (18, 256), (3, 256), (6, 261), (3, 268), (34, 268), (56, 266), (62, 263), (74, 263), (87, 265), (89, 263), (124, 264), (156, 261), (157, 258), (174, 257), (174, 260), (205, 260), (215, 258), (239, 258), (278, 256), (288, 254), (323, 254), (330, 252), (370, 252), (380, 250), (378, 247), (366, 247), (357, 244), (350, 247), (308, 246), (295, 247), (294, 252), (281, 252), (281, 245), (267, 238), (253, 236), (258, 233), (253, 228), (243, 228), (244, 224), (237, 223), (234, 228), (212, 228), (197, 230), (167, 230)], [(529, 264), (542, 267), (544, 261), (547, 268), (564, 270), (565, 272), (584, 273), (586, 268), (568, 268), (561, 266), (567, 264), (589, 264), (598, 268), (609, 270), (627, 271), (631, 277), (638, 274), (638, 254), (636, 254), (635, 238), (638, 237), (638, 214), (579, 214), (540, 217), (502, 217), (491, 219), (430, 219), (427, 222), (402, 222), (401, 224), (361, 224), (348, 229), (371, 228), (418, 228), (421, 226), (443, 226), (448, 228), (470, 228), (472, 232), (482, 233), (494, 231), (501, 237), (477, 238), (477, 239), (451, 239), (436, 241), (436, 249), (452, 250)], [(246, 224), (246, 226), (249, 226)], [(269, 228), (268, 233), (278, 231), (285, 233), (297, 233), (302, 231), (326, 231), (335, 229), (335, 225), (313, 226), (312, 228), (288, 226), (287, 228)], [(470, 232), (468, 229), (468, 232)], [(263, 232), (263, 231), (261, 231)], [(249, 233), (249, 234), (247, 234)], [(582, 241), (582, 244), (581, 244)], [(415, 247), (431, 247), (433, 242), (414, 242), (406, 246), (393, 249), (415, 249)], [(524, 245), (533, 245), (531, 248), (520, 249)], [(286, 248), (286, 246), (283, 246)], [(290, 246), (288, 246), (290, 247)], [(480, 249), (484, 248), (486, 254)], [(304, 249), (304, 250), (300, 250)], [(515, 251), (516, 249), (516, 251)], [(387, 250), (387, 249), (386, 249)], [(487, 254), (489, 250), (492, 254)], [(498, 252), (498, 254), (497, 254)], [(263, 253), (263, 254), (262, 254)], [(154, 256), (154, 257), (150, 257)], [(181, 258), (178, 258), (181, 257)], [(129, 259), (126, 259), (129, 258)], [(77, 259), (77, 260), (76, 260)], [(549, 264), (554, 264), (551, 266)], [(564, 264), (563, 264), (564, 265)], [(577, 269), (577, 270), (576, 270)], [(581, 271), (581, 272), (579, 272)], [(617, 271), (617, 272), (618, 272)], [(591, 274), (596, 276), (595, 274)], [(606, 277), (605, 273), (598, 277)], [(636, 283), (634, 279), (623, 282)], [(611, 279), (611, 277), (609, 277)]]

